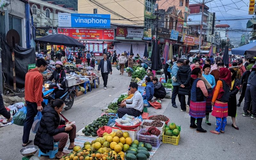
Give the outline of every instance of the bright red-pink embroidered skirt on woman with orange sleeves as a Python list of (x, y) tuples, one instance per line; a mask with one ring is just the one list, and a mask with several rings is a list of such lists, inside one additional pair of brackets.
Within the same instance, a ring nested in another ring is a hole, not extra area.
[(212, 116), (224, 118), (228, 116), (228, 102), (215, 101), (212, 109)]

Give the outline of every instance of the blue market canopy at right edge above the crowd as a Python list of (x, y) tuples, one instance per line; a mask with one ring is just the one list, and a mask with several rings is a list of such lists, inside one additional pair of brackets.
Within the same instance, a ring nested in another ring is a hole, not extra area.
[(232, 54), (243, 56), (256, 56), (256, 42), (245, 44), (241, 47), (234, 48), (231, 50)]

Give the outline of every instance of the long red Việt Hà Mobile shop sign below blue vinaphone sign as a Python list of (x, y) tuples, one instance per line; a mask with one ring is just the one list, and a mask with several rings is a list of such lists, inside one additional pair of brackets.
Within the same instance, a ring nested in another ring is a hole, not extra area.
[(80, 40), (114, 40), (114, 29), (58, 28), (58, 34), (64, 34)]

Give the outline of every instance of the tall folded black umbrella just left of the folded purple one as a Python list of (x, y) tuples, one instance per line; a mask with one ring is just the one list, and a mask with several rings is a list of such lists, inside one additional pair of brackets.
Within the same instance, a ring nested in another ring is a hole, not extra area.
[(155, 40), (155, 45), (153, 46), (151, 62), (152, 62), (152, 65), (151, 65), (152, 70), (157, 71), (162, 68), (162, 64), (161, 64), (162, 62), (161, 62), (161, 58), (158, 50), (157, 40)]

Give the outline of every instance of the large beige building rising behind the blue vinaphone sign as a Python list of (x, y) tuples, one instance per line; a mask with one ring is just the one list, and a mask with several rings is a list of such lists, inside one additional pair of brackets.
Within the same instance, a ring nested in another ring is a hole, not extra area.
[(145, 26), (145, 40), (151, 40), (159, 0), (78, 0), (78, 13), (110, 14), (111, 23)]

